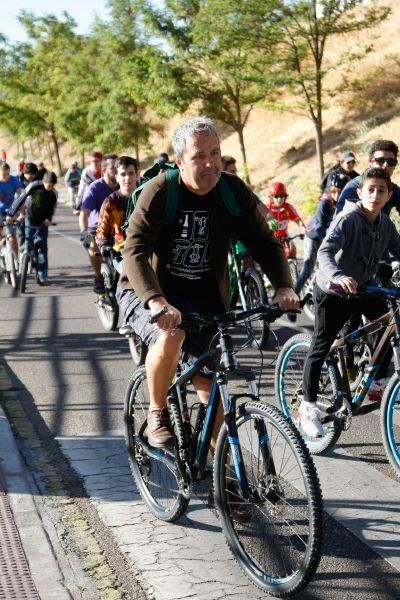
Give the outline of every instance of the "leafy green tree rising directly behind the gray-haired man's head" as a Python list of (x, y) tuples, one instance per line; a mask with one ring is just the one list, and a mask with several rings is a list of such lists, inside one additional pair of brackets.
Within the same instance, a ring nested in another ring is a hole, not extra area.
[(256, 13), (259, 22), (262, 14), (264, 40), (269, 40), (272, 49), (276, 31), (267, 16), (275, 0), (238, 0), (234, 4), (228, 0), (167, 0), (162, 9), (155, 9), (150, 2), (140, 4), (145, 22), (162, 36), (166, 52), (172, 54), (170, 64), (181, 75), (181, 97), (187, 104), (200, 100), (205, 112), (237, 133), (245, 178), (250, 183), (244, 128), (254, 105), (265, 97), (265, 71), (272, 53), (265, 51), (266, 44), (263, 53), (255, 53), (246, 29)]

